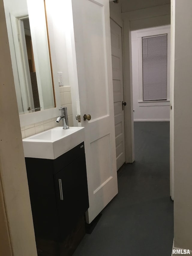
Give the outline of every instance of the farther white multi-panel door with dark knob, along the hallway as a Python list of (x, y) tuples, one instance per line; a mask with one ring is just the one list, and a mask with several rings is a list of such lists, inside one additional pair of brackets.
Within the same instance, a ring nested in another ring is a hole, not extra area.
[(115, 141), (117, 170), (125, 163), (125, 125), (123, 97), (122, 30), (113, 20), (111, 26), (111, 53), (113, 70), (113, 101), (115, 114)]

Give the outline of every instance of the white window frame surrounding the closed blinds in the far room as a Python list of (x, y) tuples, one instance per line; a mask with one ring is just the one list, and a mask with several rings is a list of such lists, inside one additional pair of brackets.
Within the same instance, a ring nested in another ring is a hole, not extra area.
[[(168, 106), (170, 105), (170, 25), (142, 29), (137, 32), (138, 68), (139, 68), (139, 106)], [(143, 56), (142, 38), (167, 34), (167, 100), (143, 101)]]

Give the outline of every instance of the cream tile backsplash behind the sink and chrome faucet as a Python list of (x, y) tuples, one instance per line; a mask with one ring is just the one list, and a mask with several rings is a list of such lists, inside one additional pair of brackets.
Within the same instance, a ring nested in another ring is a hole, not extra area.
[[(59, 87), (59, 90), (60, 90), (61, 106), (67, 107), (69, 126), (73, 126), (73, 112), (72, 112), (72, 104), (71, 104), (70, 86), (61, 86)], [(51, 119), (47, 119), (42, 122), (21, 127), (22, 138), (26, 138), (28, 136), (39, 133), (41, 131), (49, 130), (56, 126), (63, 126), (62, 121), (60, 121), (59, 123), (55, 122), (57, 117), (58, 116)]]

